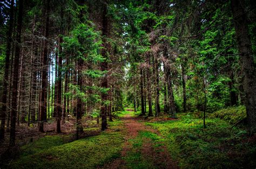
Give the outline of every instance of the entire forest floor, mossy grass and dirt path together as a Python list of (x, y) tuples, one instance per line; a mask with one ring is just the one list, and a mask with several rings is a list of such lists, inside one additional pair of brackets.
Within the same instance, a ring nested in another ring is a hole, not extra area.
[[(226, 111), (226, 110), (225, 110)], [(114, 112), (100, 131), (84, 118), (84, 134), (75, 140), (75, 120), (61, 134), (44, 133), (18, 147), (1, 168), (255, 168), (256, 136), (245, 128), (208, 117), (207, 128), (195, 113), (138, 116), (132, 109)], [(50, 123), (50, 122), (49, 122)], [(73, 124), (74, 123), (74, 124)], [(50, 126), (55, 126), (54, 121)], [(53, 128), (54, 129), (54, 128)], [(23, 139), (26, 140), (26, 139)]]

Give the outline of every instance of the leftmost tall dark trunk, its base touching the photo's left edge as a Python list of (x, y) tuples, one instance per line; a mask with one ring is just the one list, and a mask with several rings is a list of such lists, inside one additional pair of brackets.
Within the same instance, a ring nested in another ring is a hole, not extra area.
[(4, 139), (5, 134), (5, 118), (6, 118), (6, 104), (7, 104), (7, 91), (8, 91), (8, 74), (11, 54), (11, 43), (12, 43), (12, 32), (14, 25), (14, 0), (11, 0), (10, 5), (10, 19), (9, 28), (7, 34), (7, 47), (5, 56), (5, 69), (4, 69), (4, 83), (3, 83), (3, 98), (2, 98), (2, 111), (1, 111), (1, 129), (0, 129), (0, 140)]

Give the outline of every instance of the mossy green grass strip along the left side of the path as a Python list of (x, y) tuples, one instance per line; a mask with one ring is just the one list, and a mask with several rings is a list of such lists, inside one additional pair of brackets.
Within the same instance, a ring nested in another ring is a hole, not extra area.
[[(110, 129), (122, 122), (109, 122)], [(121, 130), (121, 129), (120, 129)], [(21, 156), (5, 168), (91, 168), (120, 156), (122, 131), (102, 132), (98, 136), (65, 143), (60, 136), (46, 136), (22, 147)]]

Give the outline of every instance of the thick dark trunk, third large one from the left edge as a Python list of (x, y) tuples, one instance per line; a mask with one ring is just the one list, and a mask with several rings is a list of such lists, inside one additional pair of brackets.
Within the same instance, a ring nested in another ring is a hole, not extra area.
[(44, 52), (43, 52), (43, 70), (42, 70), (42, 87), (41, 87), (41, 106), (40, 106), (40, 113), (39, 113), (39, 131), (44, 132), (44, 117), (46, 113), (46, 85), (47, 85), (47, 65), (48, 65), (48, 36), (49, 36), (49, 13), (50, 13), (50, 0), (47, 0), (46, 3), (46, 21), (45, 21), (45, 33), (44, 37)]

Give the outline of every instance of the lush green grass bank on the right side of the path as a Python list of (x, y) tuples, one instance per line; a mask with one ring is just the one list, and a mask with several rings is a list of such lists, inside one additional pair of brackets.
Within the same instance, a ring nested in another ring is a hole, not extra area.
[(178, 114), (177, 121), (147, 122), (159, 130), (174, 160), (181, 168), (255, 167), (256, 147), (247, 142), (245, 130), (217, 118), (203, 119)]

